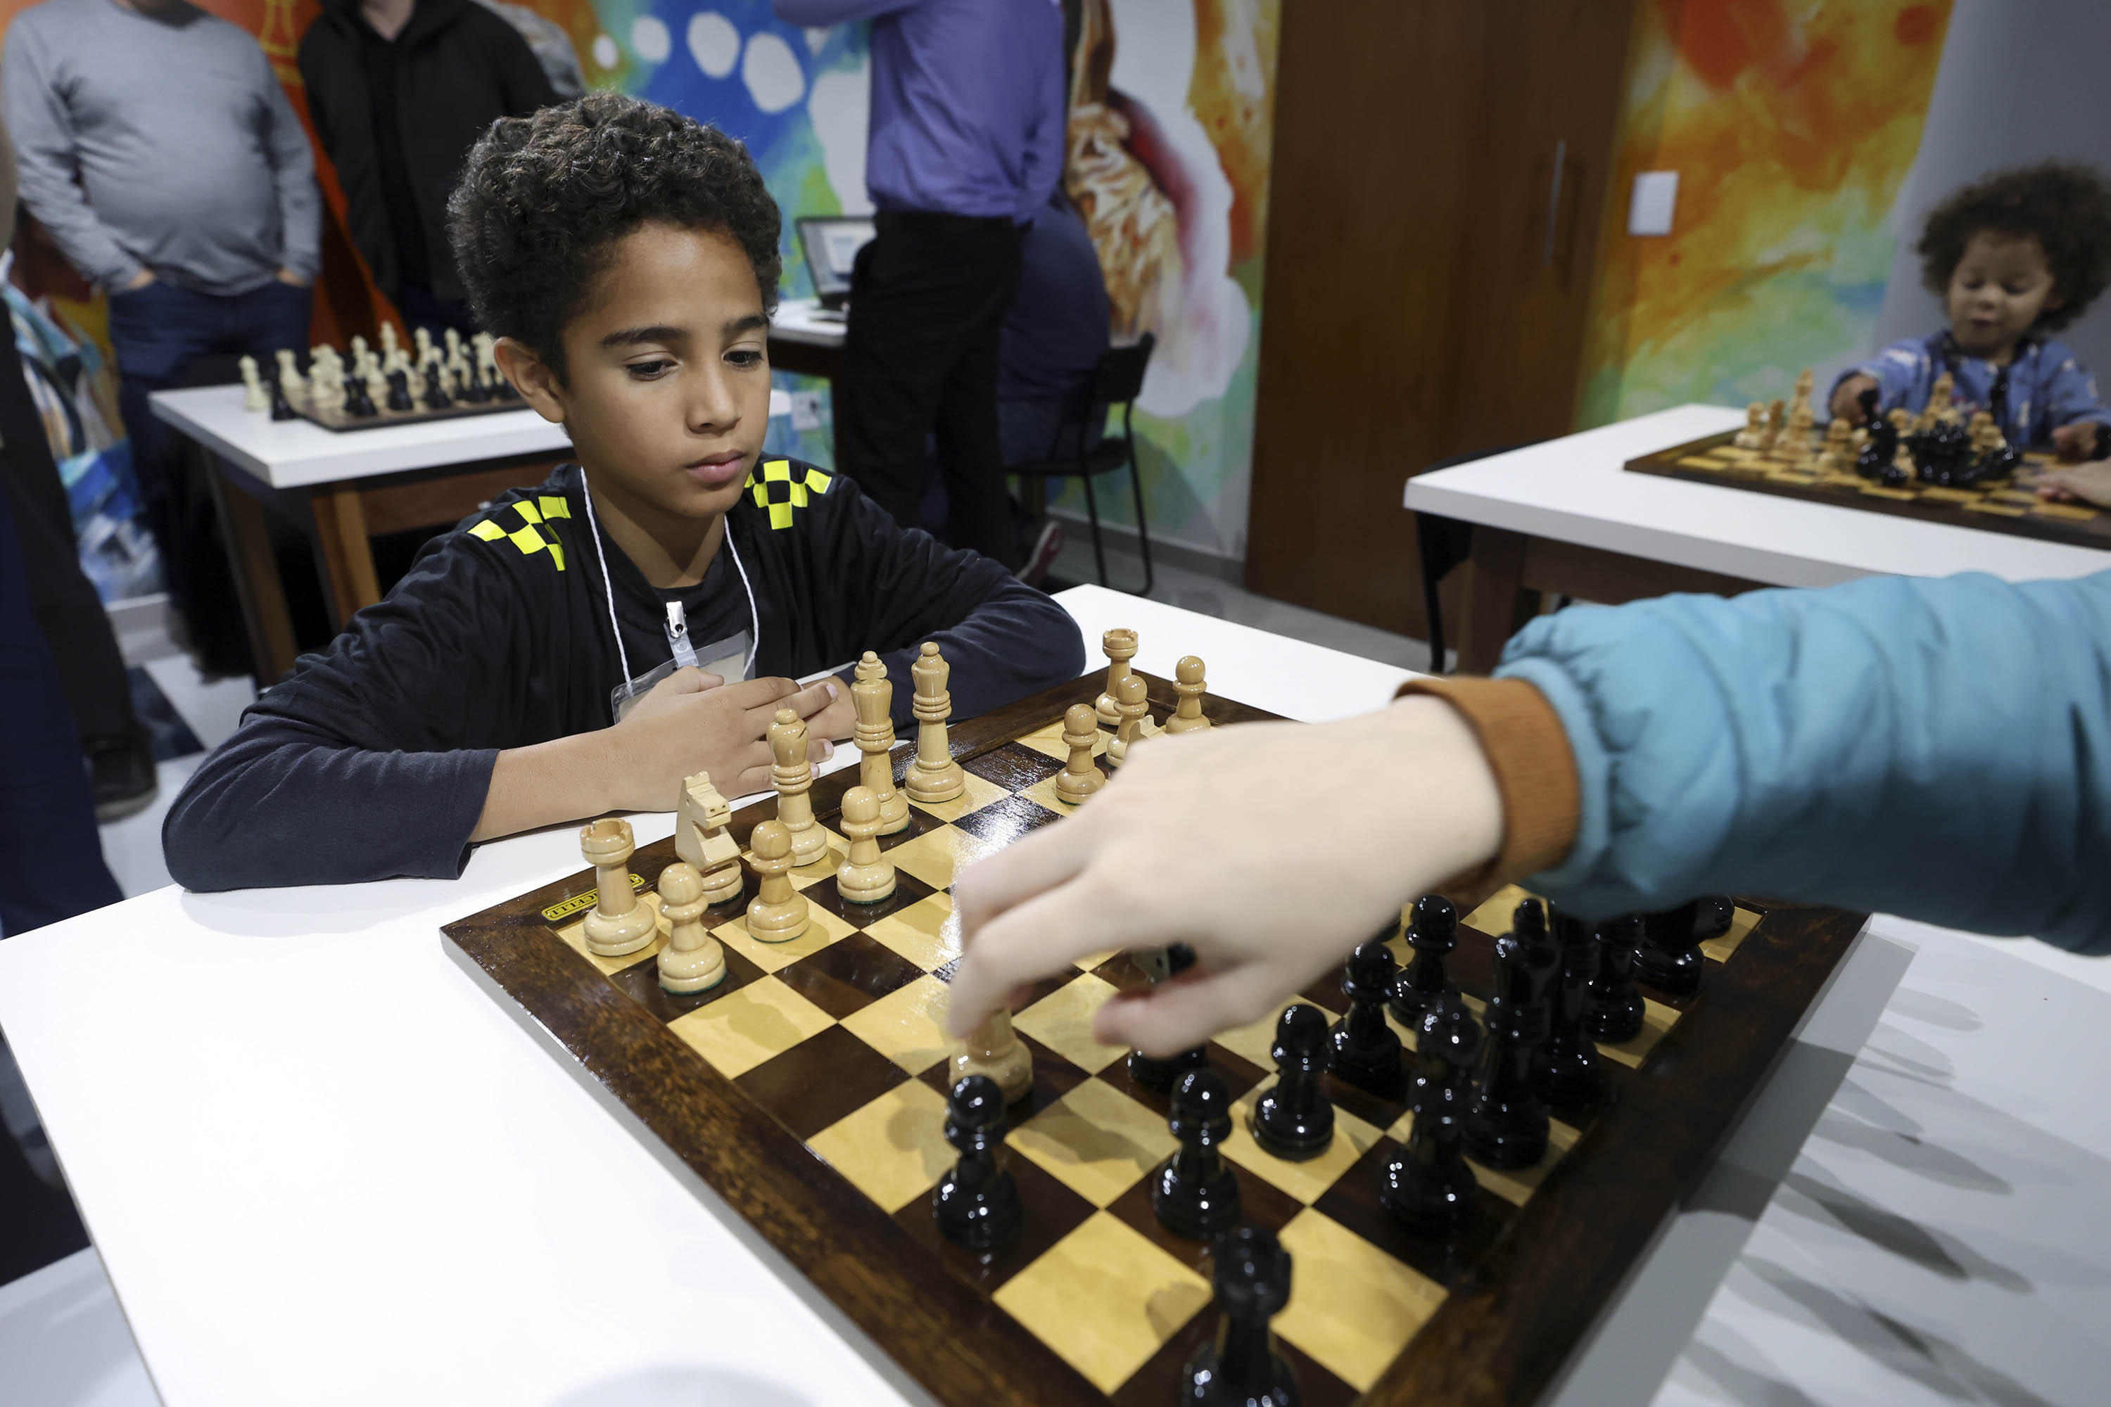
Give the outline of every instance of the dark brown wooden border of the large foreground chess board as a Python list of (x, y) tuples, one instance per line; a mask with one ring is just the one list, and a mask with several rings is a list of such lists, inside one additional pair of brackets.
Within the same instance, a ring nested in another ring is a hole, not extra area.
[[(1169, 681), (1144, 679), (1153, 713), (1163, 717), (1178, 696)], [(952, 755), (969, 762), (1058, 721), (1070, 705), (1091, 702), (1102, 683), (1093, 673), (961, 721)], [(1275, 717), (1216, 694), (1203, 711), (1216, 724)], [(897, 745), (897, 776), (910, 755), (910, 743)], [(815, 812), (836, 810), (853, 785), (857, 768), (817, 780)], [(733, 818), (735, 840), (745, 846), (754, 825), (773, 814), (768, 799), (743, 808)], [(669, 837), (640, 846), (631, 867), (650, 884), (673, 859)], [(595, 871), (583, 869), (448, 924), (445, 947), (937, 1401), (1106, 1403), (1056, 1350), (904, 1242), (906, 1232), (885, 1211), (557, 939), (543, 909), (593, 886)], [(1592, 1120), (1359, 1401), (1524, 1407), (1560, 1377), (1735, 1129), (1864, 922), (1834, 909), (1742, 903), (1763, 918), (1731, 962), (1710, 972), (1625, 1093)]]

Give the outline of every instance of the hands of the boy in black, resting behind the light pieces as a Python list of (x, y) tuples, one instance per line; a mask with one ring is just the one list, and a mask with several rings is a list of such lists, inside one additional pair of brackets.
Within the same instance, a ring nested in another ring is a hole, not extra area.
[[(768, 789), (768, 730), (777, 709), (813, 717), (830, 707), (830, 690), (847, 694), (840, 679), (806, 688), (792, 679), (720, 683), (701, 669), (678, 669), (621, 724), (595, 734), (608, 768), (608, 810), (673, 810), (682, 778), (695, 772), (709, 772), (726, 797)], [(830, 753), (828, 738), (811, 736), (809, 762), (825, 762)]]

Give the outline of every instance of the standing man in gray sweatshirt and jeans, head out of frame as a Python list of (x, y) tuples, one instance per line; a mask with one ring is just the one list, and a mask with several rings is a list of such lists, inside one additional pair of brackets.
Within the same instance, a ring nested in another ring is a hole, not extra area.
[(19, 13), (0, 95), (21, 198), (110, 293), (110, 344), (169, 593), (213, 673), (245, 669), (203, 485), (148, 392), (308, 344), (321, 192), (308, 135), (258, 42), (184, 0), (46, 0)]

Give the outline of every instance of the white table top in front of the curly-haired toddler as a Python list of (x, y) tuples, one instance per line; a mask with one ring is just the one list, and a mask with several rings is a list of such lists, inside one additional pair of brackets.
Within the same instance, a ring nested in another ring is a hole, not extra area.
[(1406, 506), (1535, 538), (1742, 576), (1834, 586), (1858, 576), (1991, 572), (2003, 580), (2088, 576), (2111, 553), (1889, 513), (1687, 483), (1621, 468), (1744, 424), (1744, 411), (1680, 405), (1408, 479)]

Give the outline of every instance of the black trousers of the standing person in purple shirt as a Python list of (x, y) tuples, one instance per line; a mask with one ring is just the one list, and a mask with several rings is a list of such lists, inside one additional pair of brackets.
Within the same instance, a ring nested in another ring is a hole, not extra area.
[(851, 270), (836, 382), (840, 468), (904, 527), (918, 521), (925, 445), (937, 439), (946, 538), (1022, 565), (996, 435), (996, 354), (1020, 285), (1020, 228), (880, 211)]

